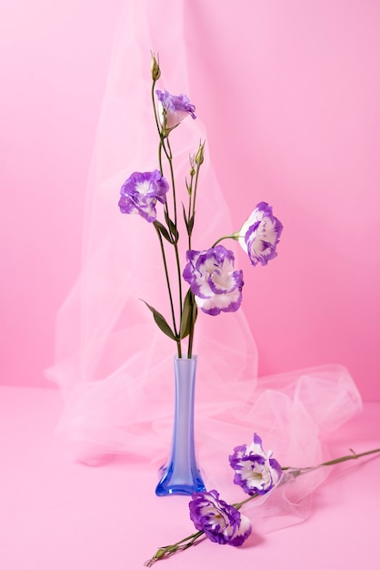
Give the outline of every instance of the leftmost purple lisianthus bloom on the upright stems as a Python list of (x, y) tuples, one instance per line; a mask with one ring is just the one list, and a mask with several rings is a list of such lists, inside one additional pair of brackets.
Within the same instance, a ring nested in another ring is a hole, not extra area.
[(149, 222), (156, 218), (155, 203), (165, 204), (169, 185), (159, 170), (153, 172), (134, 172), (125, 180), (119, 199), (119, 208), (123, 214), (140, 214)]

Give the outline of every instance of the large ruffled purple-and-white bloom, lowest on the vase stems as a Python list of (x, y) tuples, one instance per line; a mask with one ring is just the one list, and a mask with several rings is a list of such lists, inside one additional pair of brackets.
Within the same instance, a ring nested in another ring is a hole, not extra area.
[(209, 315), (222, 310), (238, 310), (242, 302), (243, 271), (234, 270), (232, 251), (218, 245), (215, 248), (186, 253), (184, 279), (195, 295), (197, 306)]

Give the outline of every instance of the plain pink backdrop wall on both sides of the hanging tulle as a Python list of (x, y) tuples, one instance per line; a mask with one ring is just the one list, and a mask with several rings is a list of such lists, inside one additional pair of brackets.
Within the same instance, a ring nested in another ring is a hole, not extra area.
[[(43, 369), (80, 269), (86, 177), (123, 4), (0, 8), (1, 383), (50, 385)], [(228, 0), (216, 20), (215, 2), (187, 4), (189, 95), (232, 230), (262, 199), (285, 225), (267, 268), (239, 260), (259, 372), (339, 362), (365, 399), (380, 400), (380, 5)], [(229, 80), (236, 66), (243, 91)]]

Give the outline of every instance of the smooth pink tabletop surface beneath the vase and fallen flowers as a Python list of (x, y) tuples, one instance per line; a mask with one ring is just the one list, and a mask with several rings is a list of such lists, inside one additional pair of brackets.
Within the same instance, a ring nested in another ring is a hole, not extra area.
[[(152, 465), (73, 463), (53, 436), (61, 409), (57, 392), (0, 388), (1, 568), (137, 570), (156, 547), (193, 532), (185, 497), (155, 497)], [(331, 438), (330, 453), (378, 447), (379, 415), (378, 403), (366, 403)], [(335, 466), (302, 524), (263, 533), (253, 520), (254, 534), (242, 548), (205, 541), (155, 568), (375, 569), (379, 461)]]

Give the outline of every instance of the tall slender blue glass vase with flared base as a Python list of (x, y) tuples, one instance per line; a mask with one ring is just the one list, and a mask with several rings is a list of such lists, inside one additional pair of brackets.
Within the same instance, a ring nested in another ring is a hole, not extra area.
[(175, 357), (175, 418), (172, 449), (162, 467), (155, 494), (192, 494), (205, 491), (205, 483), (195, 461), (194, 396), (196, 356)]

